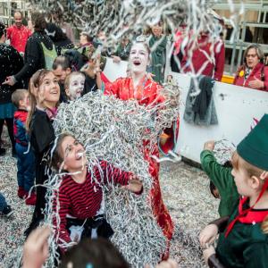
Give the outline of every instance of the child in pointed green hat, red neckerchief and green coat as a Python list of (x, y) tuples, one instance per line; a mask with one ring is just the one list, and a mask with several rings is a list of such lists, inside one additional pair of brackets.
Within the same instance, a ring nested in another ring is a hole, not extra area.
[[(232, 156), (239, 207), (230, 219), (212, 222), (202, 230), (200, 244), (209, 267), (264, 268), (268, 264), (268, 114), (244, 138)], [(227, 226), (227, 228), (226, 228)], [(223, 231), (216, 250), (213, 243)]]

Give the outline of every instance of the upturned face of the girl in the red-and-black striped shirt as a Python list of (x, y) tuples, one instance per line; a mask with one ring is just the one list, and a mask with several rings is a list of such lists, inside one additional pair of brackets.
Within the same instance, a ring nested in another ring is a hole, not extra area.
[(82, 170), (86, 165), (85, 148), (75, 138), (71, 136), (63, 138), (60, 149), (64, 161), (64, 170), (76, 172)]

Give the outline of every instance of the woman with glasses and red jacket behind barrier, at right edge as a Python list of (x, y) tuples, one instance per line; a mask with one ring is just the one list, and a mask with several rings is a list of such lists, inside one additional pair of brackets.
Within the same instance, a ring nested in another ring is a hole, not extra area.
[(244, 64), (237, 71), (234, 85), (268, 91), (268, 67), (264, 65), (264, 52), (261, 46), (247, 46)]

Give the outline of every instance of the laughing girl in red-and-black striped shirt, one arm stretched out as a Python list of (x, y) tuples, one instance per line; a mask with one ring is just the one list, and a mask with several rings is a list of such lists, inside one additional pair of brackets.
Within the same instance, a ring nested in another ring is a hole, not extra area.
[(59, 247), (63, 250), (80, 237), (94, 237), (95, 234), (109, 238), (113, 234), (100, 213), (103, 200), (101, 185), (119, 183), (134, 193), (142, 190), (142, 183), (130, 172), (122, 172), (105, 161), (100, 162), (99, 169), (93, 168), (93, 174), (88, 172), (85, 148), (68, 133), (56, 139), (52, 166), (59, 172), (64, 170), (69, 173), (63, 177), (54, 197), (54, 213), (59, 214), (59, 222), (55, 217), (54, 226)]

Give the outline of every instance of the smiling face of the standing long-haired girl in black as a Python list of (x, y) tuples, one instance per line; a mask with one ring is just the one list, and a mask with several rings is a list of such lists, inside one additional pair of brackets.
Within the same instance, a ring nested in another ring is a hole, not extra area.
[(56, 104), (60, 98), (60, 87), (57, 78), (51, 71), (46, 74), (38, 90), (38, 101), (40, 103)]

